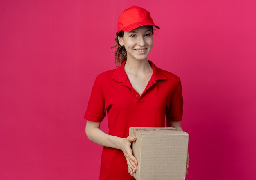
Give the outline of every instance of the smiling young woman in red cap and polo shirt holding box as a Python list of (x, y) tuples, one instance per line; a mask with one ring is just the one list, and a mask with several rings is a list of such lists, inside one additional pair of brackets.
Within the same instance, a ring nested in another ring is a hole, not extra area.
[[(138, 161), (130, 145), (130, 127), (167, 127), (182, 130), (183, 98), (180, 78), (157, 68), (147, 59), (153, 48), (150, 13), (131, 6), (119, 16), (116, 33), (116, 69), (101, 73), (94, 82), (84, 118), (88, 138), (103, 145), (100, 180), (134, 180)], [(109, 133), (100, 130), (108, 116)], [(187, 160), (187, 167), (189, 156)]]

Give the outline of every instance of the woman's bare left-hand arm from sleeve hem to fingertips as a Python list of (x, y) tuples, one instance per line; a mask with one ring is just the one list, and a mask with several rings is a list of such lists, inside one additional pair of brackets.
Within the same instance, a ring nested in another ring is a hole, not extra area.
[(135, 141), (135, 137), (128, 136), (127, 138), (119, 138), (117, 136), (111, 136), (99, 129), (100, 122), (93, 122), (87, 120), (85, 133), (89, 140), (102, 146), (112, 147), (123, 151), (124, 156), (128, 164), (130, 172), (137, 171), (137, 159), (132, 155), (132, 149), (130, 148), (131, 142)]

